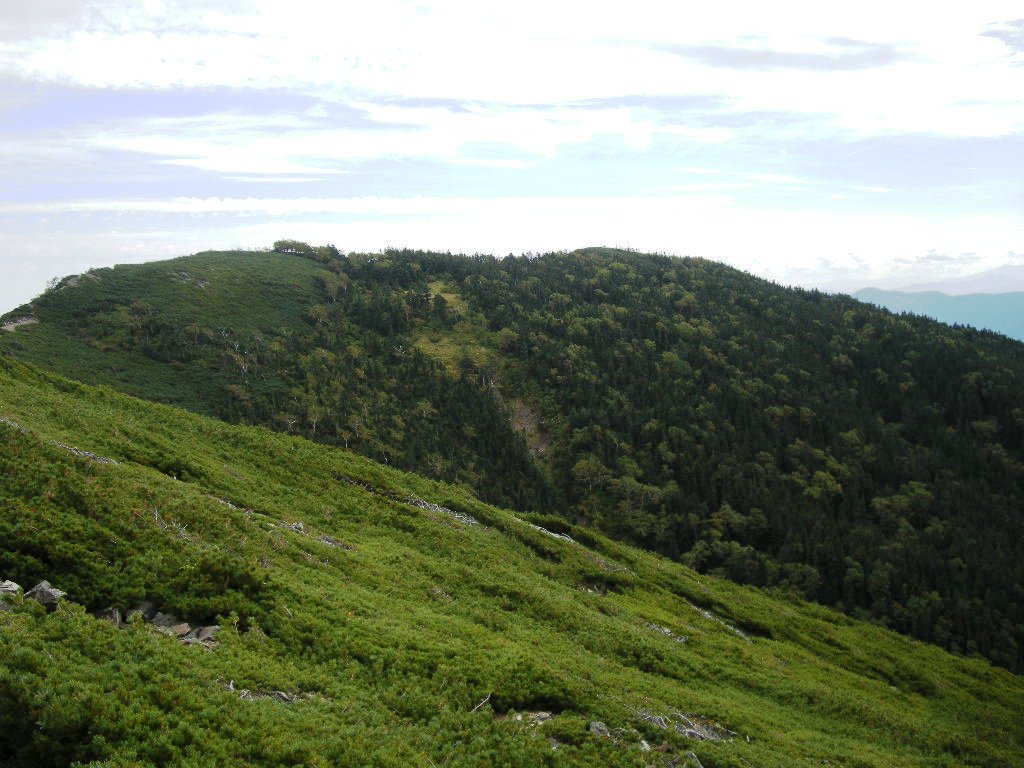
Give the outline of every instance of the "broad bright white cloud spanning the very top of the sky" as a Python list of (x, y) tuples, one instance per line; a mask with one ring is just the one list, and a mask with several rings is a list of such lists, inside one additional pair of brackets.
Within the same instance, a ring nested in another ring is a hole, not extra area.
[[(184, 12), (109, 4), (105, 25), (0, 43), (0, 69), (100, 87), (288, 87), (351, 98), (431, 95), (559, 104), (628, 93), (725, 96), (736, 110), (829, 116), (861, 134), (1006, 135), (1024, 125), (1024, 69), (982, 37), (1014, 2), (246, 3)], [(893, 62), (852, 72), (716, 68), (666, 45), (788, 53), (886, 45)], [(1013, 94), (1008, 96), (1008, 94)], [(642, 133), (637, 140), (642, 141)]]

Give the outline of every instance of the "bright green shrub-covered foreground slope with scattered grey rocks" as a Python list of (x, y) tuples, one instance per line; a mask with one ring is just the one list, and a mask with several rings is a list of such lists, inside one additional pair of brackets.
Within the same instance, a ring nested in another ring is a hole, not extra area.
[(5, 357), (0, 420), (0, 580), (68, 592), (0, 611), (4, 765), (1024, 761), (984, 660)]

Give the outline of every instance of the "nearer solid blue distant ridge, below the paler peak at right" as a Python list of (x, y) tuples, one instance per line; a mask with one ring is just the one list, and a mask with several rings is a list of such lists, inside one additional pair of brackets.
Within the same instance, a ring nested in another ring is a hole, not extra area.
[(907, 293), (865, 288), (853, 296), (894, 312), (924, 314), (951, 326), (974, 326), (1024, 341), (1024, 292), (949, 296), (938, 291)]

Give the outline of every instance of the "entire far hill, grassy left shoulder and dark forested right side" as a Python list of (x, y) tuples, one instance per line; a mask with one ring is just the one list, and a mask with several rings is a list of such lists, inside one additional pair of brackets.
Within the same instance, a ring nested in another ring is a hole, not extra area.
[(699, 259), (287, 246), (94, 270), (0, 350), (1024, 669), (1024, 346)]

